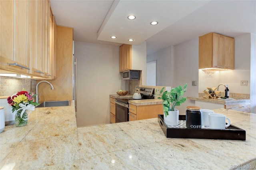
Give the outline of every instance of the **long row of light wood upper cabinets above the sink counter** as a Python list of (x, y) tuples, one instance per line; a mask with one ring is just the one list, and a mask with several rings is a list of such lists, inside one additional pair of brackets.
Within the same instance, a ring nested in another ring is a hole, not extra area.
[(0, 1), (1, 72), (52, 79), (50, 13), (49, 0)]

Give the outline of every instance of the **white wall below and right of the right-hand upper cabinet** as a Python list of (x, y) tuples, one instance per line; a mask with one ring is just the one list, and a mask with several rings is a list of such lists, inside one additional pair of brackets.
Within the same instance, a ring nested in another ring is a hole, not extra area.
[[(251, 35), (244, 34), (235, 38), (235, 69), (229, 71), (216, 71), (214, 75), (205, 75), (199, 70), (199, 92), (206, 87), (218, 87), (219, 84), (228, 84), (230, 93), (250, 93), (250, 58)], [(240, 86), (241, 80), (248, 80), (248, 86)], [(219, 90), (224, 91), (220, 86)]]

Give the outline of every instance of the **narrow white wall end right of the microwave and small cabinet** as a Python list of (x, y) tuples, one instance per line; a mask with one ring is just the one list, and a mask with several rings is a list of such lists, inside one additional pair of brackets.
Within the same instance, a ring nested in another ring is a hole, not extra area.
[(146, 42), (132, 45), (132, 69), (142, 70), (142, 85), (147, 83), (147, 48)]

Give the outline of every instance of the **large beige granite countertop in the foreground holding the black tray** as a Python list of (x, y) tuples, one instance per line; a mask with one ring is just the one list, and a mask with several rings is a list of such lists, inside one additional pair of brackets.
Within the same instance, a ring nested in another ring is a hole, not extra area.
[(256, 114), (214, 112), (246, 140), (166, 138), (157, 118), (76, 128), (74, 105), (36, 108), (28, 125), (0, 133), (0, 169), (230, 169), (255, 160)]

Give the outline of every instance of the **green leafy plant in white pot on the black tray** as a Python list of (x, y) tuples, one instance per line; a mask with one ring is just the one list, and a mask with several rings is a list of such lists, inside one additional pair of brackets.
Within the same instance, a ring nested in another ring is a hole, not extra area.
[(187, 90), (187, 83), (183, 86), (178, 86), (172, 88), (170, 91), (164, 91), (163, 87), (160, 91), (156, 91), (156, 96), (158, 99), (162, 99), (164, 107), (164, 122), (166, 125), (177, 126), (179, 120), (179, 111), (175, 109), (175, 106), (180, 106), (180, 104), (186, 101), (186, 97), (182, 97), (184, 92)]

